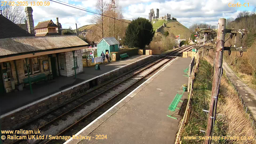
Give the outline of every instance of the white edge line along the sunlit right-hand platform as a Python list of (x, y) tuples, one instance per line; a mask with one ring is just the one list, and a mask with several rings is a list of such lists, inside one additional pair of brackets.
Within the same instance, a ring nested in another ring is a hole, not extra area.
[[(179, 58), (179, 57), (177, 57)], [(176, 60), (177, 58), (175, 58), (174, 60)], [(172, 60), (172, 61), (174, 61)], [(168, 66), (172, 61), (170, 61), (166, 66)], [(162, 69), (164, 69), (166, 66), (164, 66), (163, 68), (161, 68), (158, 72), (162, 71)], [(154, 77), (158, 72), (156, 72), (153, 76), (151, 76), (150, 78), (148, 78), (148, 80), (150, 80), (152, 77)], [(148, 80), (146, 80), (145, 82), (143, 82), (142, 84), (140, 84), (140, 86), (142, 86), (143, 84), (145, 84)], [(104, 116), (106, 113), (108, 113), (110, 110), (112, 110), (114, 107), (116, 107), (120, 102), (122, 102), (124, 99), (126, 99), (128, 96), (130, 96), (135, 90), (137, 90), (138, 88), (140, 88), (140, 86), (138, 86), (137, 88), (135, 88), (132, 92), (130, 92), (127, 96), (125, 96), (124, 98), (122, 98), (122, 100), (120, 100), (119, 102), (117, 102), (114, 106), (112, 106), (111, 108), (109, 108), (106, 112), (104, 112), (103, 114), (101, 114), (98, 118), (96, 118), (94, 121), (92, 121), (90, 124), (88, 124), (86, 127), (84, 127), (82, 130), (80, 130), (78, 133), (75, 134), (75, 136), (78, 136), (79, 134), (81, 134), (84, 130), (86, 130), (89, 126), (91, 126), (94, 122), (96, 122), (97, 120), (99, 120), (102, 116)], [(70, 142), (71, 140), (73, 140), (73, 138), (70, 138), (69, 140), (67, 140), (66, 142), (64, 142), (63, 144), (68, 144), (68, 142)]]

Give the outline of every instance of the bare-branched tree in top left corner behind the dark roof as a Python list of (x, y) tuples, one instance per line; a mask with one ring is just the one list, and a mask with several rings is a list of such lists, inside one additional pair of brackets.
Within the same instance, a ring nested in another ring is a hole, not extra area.
[[(25, 12), (24, 12), (24, 8), (22, 6), (9, 6), (9, 5), (5, 5), (5, 6), (1, 6), (2, 3), (4, 2), (3, 0), (0, 0), (0, 10), (2, 10), (2, 15), (4, 17), (6, 17), (8, 20), (14, 22), (15, 24), (21, 24), (24, 22), (25, 19)], [(9, 3), (11, 1), (7, 1), (7, 3)]]

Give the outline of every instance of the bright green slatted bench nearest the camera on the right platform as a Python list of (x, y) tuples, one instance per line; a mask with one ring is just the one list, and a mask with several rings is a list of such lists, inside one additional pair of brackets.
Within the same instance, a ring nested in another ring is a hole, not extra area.
[[(184, 90), (183, 90), (182, 94), (176, 94), (176, 96), (172, 100), (172, 103), (168, 107), (168, 113), (167, 113), (168, 117), (174, 118), (174, 119), (177, 120), (177, 118), (175, 118), (173, 116), (173, 114), (174, 114), (175, 109), (179, 109), (180, 110), (180, 108), (178, 108), (178, 104), (179, 104), (179, 102), (183, 102), (182, 100), (180, 100), (182, 98), (183, 93), (184, 93)], [(169, 110), (171, 111), (170, 114), (169, 114)]]

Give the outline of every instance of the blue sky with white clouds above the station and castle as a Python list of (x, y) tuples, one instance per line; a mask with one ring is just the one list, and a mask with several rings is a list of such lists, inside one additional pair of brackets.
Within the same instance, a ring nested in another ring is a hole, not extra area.
[[(16, 0), (23, 1), (23, 0)], [(48, 2), (48, 0), (26, 0), (30, 5), (34, 2)], [(57, 0), (54, 0), (57, 1)], [(69, 4), (95, 11), (97, 0), (61, 0)], [(206, 23), (217, 25), (219, 18), (236, 18), (240, 11), (251, 11), (256, 6), (256, 0), (116, 0), (122, 6), (124, 19), (132, 20), (138, 17), (148, 19), (150, 9), (159, 9), (159, 16), (171, 14), (171, 17), (177, 18), (178, 22), (188, 27), (194, 23)], [(44, 20), (53, 20), (56, 18), (62, 24), (62, 28), (72, 29), (87, 24), (92, 24), (92, 13), (71, 8), (55, 2), (50, 2), (49, 6), (32, 6), (34, 25)], [(60, 2), (60, 1), (58, 1)], [(241, 7), (229, 7), (232, 4), (242, 4)], [(245, 4), (246, 7), (243, 6)], [(248, 6), (249, 5), (249, 6)], [(25, 8), (26, 6), (24, 6)]]

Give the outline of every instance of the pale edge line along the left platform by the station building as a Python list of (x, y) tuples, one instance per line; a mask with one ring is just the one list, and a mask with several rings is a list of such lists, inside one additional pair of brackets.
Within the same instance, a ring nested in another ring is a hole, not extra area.
[[(152, 55), (150, 55), (150, 56), (152, 56)], [(146, 59), (146, 58), (148, 58), (148, 57), (150, 57), (150, 56), (147, 56), (147, 57), (142, 58), (142, 59), (140, 59), (140, 60), (144, 60), (144, 59)], [(129, 65), (134, 64), (134, 63), (136, 63), (136, 62), (139, 62), (140, 60), (137, 60), (137, 61), (132, 62), (132, 63), (130, 63), (130, 64), (126, 64), (125, 66), (121, 66), (120, 68), (124, 68), (124, 67), (126, 67), (126, 66), (129, 66)], [(114, 72), (114, 71), (116, 71), (116, 70), (119, 70), (120, 68), (116, 68), (116, 69), (114, 69), (114, 70), (112, 70), (112, 71), (110, 71), (110, 72), (107, 72), (107, 73), (105, 73), (105, 74), (109, 74), (109, 73), (111, 73), (111, 72)], [(57, 94), (60, 94), (61, 92), (66, 92), (67, 90), (73, 89), (73, 88), (76, 87), (76, 86), (80, 86), (81, 84), (84, 84), (84, 83), (86, 83), (86, 82), (89, 82), (89, 81), (91, 81), (91, 80), (94, 80), (94, 79), (96, 79), (96, 78), (99, 78), (99, 77), (101, 77), (101, 76), (104, 76), (105, 74), (102, 74), (102, 75), (100, 75), (100, 76), (96, 76), (96, 77), (94, 77), (94, 78), (91, 78), (91, 79), (89, 79), (89, 80), (86, 80), (86, 81), (84, 81), (84, 82), (81, 82), (81, 83), (79, 83), (79, 84), (76, 84), (76, 85), (74, 85), (74, 86), (71, 86), (71, 87), (69, 87), (69, 88), (66, 88), (66, 89), (64, 89), (64, 90), (61, 90), (61, 91), (56, 92), (56, 93), (54, 93), (54, 94), (51, 94), (50, 96), (46, 96), (45, 98), (42, 98), (42, 99), (40, 99), (40, 100), (37, 100), (37, 101), (35, 101), (35, 102), (32, 102), (32, 103), (30, 103), (30, 104), (27, 104), (27, 105), (25, 105), (25, 106), (22, 106), (22, 107), (20, 107), (20, 108), (15, 109), (15, 110), (12, 110), (12, 111), (10, 111), (10, 112), (7, 112), (6, 114), (1, 115), (1, 116), (0, 116), (0, 119), (1, 119), (1, 118), (4, 118), (4, 117), (6, 117), (6, 116), (8, 116), (8, 115), (10, 115), (10, 114), (13, 114), (13, 113), (15, 113), (15, 112), (18, 112), (18, 111), (20, 111), (20, 110), (22, 110), (22, 109), (24, 109), (24, 108), (27, 108), (27, 107), (29, 107), (29, 106), (32, 106), (32, 105), (34, 105), (34, 104), (36, 104), (36, 103), (38, 103), (38, 102), (42, 102), (43, 100), (49, 99), (49, 98), (51, 98), (51, 97), (53, 97), (53, 96), (56, 96)]]

